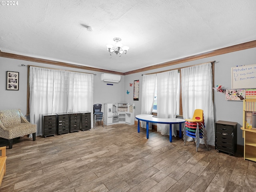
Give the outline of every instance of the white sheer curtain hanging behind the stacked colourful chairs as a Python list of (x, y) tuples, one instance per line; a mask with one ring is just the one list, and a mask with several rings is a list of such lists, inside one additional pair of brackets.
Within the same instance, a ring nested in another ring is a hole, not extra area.
[(192, 118), (195, 109), (204, 110), (204, 122), (208, 137), (207, 142), (209, 145), (214, 146), (215, 133), (211, 63), (182, 68), (181, 77), (183, 118)]

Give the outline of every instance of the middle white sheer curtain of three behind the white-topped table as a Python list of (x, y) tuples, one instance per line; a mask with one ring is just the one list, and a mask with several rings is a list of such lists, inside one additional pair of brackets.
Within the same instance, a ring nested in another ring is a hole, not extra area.
[[(178, 70), (158, 73), (157, 75), (157, 117), (175, 118), (177, 108)], [(157, 131), (170, 135), (168, 124), (157, 124)], [(172, 125), (172, 135), (176, 136)]]

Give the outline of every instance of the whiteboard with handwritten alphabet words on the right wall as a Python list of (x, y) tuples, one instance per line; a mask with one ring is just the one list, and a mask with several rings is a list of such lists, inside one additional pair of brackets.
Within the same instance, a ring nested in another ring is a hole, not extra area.
[(256, 64), (231, 68), (232, 89), (256, 88)]

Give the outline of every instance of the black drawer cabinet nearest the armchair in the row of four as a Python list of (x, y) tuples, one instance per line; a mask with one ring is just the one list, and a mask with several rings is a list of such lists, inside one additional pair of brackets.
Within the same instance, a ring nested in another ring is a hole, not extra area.
[(56, 134), (56, 114), (43, 114), (43, 137)]

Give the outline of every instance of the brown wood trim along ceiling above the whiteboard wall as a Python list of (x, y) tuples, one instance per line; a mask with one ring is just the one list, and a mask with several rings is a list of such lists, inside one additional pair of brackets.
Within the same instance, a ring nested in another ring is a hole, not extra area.
[(176, 64), (180, 64), (180, 63), (184, 63), (184, 62), (194, 61), (194, 60), (198, 60), (198, 59), (202, 59), (202, 58), (212, 57), (212, 56), (226, 54), (226, 53), (235, 52), (235, 51), (240, 51), (240, 50), (244, 50), (244, 49), (250, 49), (250, 48), (254, 48), (254, 47), (256, 47), (256, 40), (238, 44), (238, 45), (229, 46), (226, 48), (221, 48), (221, 49), (205, 52), (205, 53), (194, 55), (194, 56), (189, 56), (189, 57), (157, 64), (157, 65), (153, 65), (153, 66), (144, 67), (144, 68), (129, 71), (129, 72), (125, 72), (124, 75), (129, 75), (129, 74), (139, 73), (139, 72), (143, 72), (143, 71), (158, 69), (158, 68), (162, 68), (162, 67), (172, 66), (172, 65), (176, 65)]

